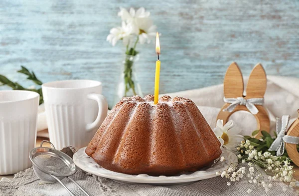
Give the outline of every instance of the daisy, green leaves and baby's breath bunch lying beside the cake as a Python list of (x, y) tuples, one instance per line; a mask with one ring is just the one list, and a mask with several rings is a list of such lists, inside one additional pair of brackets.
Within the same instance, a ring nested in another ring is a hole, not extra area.
[[(277, 152), (271, 149), (277, 134), (272, 138), (269, 133), (262, 131), (261, 139), (254, 138), (258, 131), (254, 131), (252, 136), (242, 136), (239, 135), (241, 130), (232, 120), (225, 125), (222, 120), (217, 121), (215, 135), (223, 148), (236, 152), (239, 161), (231, 163), (228, 169), (216, 174), (227, 178), (228, 186), (244, 178), (250, 184), (262, 186), (266, 193), (273, 187), (273, 181), (289, 183), (289, 187), (294, 188), (296, 180), (293, 178), (292, 160), (286, 152), (277, 156)], [(224, 161), (224, 157), (220, 161)], [(251, 192), (248, 189), (247, 193)]]

